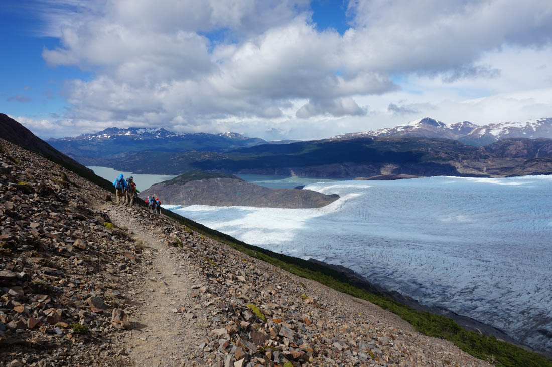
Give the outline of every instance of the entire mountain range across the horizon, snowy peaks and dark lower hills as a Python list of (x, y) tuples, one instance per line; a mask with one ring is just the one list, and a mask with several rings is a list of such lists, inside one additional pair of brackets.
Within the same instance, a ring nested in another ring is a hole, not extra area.
[[(550, 131), (552, 119), (477, 126), (424, 118), (320, 141), (267, 142), (233, 132), (175, 134), (162, 128), (112, 127), (49, 142), (86, 166), (134, 173), (505, 177), (552, 173), (552, 140), (534, 139), (550, 138)], [(484, 142), (492, 143), (481, 146)]]

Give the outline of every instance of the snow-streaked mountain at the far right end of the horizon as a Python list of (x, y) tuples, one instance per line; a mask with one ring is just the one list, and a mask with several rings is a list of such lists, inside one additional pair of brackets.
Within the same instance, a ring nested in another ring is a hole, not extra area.
[(552, 118), (479, 126), (459, 140), (469, 145), (482, 146), (510, 137), (552, 139)]

